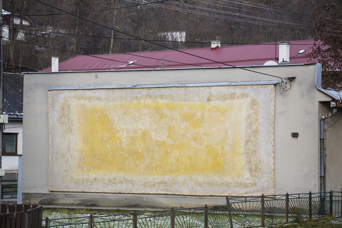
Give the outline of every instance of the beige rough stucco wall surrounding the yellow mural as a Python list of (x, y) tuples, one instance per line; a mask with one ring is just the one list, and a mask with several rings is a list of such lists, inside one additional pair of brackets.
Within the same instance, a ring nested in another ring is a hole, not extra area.
[[(248, 67), (278, 77), (297, 76), (291, 90), (275, 87), (275, 193), (318, 192), (319, 102), (315, 65)], [(63, 205), (171, 207), (223, 204), (223, 197), (49, 192), (48, 90), (51, 87), (268, 81), (274, 77), (236, 68), (28, 73), (24, 75), (23, 202)], [(330, 108), (320, 112), (329, 112)], [(326, 113), (324, 113), (326, 114)], [(327, 124), (328, 125), (328, 124)], [(291, 137), (298, 132), (299, 137)], [(330, 141), (332, 142), (332, 140)], [(329, 146), (329, 141), (328, 141)], [(327, 171), (328, 173), (328, 171)], [(339, 177), (340, 178), (340, 177)], [(328, 178), (329, 179), (329, 178)], [(341, 178), (340, 178), (341, 179)], [(340, 185), (339, 183), (336, 185)], [(329, 184), (327, 185), (327, 189)], [(135, 196), (135, 197), (132, 197)]]

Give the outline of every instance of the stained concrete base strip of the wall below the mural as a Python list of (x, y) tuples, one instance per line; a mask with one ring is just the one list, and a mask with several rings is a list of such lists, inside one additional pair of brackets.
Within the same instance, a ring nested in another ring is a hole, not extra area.
[(23, 193), (23, 203), (38, 205), (167, 209), (227, 205), (225, 197)]

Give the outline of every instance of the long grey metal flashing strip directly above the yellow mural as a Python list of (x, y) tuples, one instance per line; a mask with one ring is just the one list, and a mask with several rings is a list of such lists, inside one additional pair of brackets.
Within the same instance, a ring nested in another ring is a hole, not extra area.
[(278, 81), (251, 81), (251, 82), (213, 82), (213, 83), (188, 83), (188, 84), (156, 84), (156, 85), (78, 86), (78, 87), (51, 87), (49, 90), (138, 89), (138, 88), (201, 87), (201, 86), (222, 86), (222, 85), (267, 85), (267, 84), (277, 84), (277, 83)]

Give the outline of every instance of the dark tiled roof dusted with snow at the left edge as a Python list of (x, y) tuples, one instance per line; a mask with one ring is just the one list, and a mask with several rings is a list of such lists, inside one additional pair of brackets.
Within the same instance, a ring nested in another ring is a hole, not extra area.
[(23, 119), (24, 76), (3, 73), (3, 113), (8, 118)]

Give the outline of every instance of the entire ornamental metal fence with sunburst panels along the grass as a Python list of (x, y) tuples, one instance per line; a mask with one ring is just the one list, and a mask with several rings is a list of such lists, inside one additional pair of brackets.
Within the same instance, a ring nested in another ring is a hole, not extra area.
[(227, 205), (43, 221), (45, 228), (241, 228), (342, 214), (341, 192), (226, 197)]

